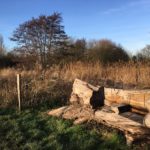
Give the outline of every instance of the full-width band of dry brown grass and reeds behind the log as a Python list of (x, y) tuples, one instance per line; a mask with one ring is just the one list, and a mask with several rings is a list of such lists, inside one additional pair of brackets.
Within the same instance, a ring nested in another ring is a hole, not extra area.
[(32, 106), (51, 101), (66, 103), (75, 78), (93, 84), (122, 88), (149, 88), (150, 64), (129, 62), (103, 66), (100, 63), (70, 63), (42, 71), (0, 70), (0, 105), (17, 103), (16, 74), (22, 76), (22, 104)]

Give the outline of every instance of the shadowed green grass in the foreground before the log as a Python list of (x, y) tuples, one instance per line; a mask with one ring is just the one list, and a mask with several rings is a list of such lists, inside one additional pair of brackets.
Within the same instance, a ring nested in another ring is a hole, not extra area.
[(45, 109), (0, 109), (0, 150), (128, 149), (116, 131), (50, 117)]

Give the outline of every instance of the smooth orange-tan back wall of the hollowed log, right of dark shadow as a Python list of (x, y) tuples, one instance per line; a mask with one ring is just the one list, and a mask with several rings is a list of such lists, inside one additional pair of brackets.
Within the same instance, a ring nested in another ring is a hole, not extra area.
[(143, 111), (150, 110), (150, 90), (122, 90), (104, 88), (107, 101), (119, 104), (129, 104), (133, 108)]

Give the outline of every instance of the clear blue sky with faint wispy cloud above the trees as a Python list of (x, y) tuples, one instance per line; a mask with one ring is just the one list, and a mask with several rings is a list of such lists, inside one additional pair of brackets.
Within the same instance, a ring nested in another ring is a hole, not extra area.
[(24, 21), (41, 14), (62, 13), (63, 25), (74, 38), (108, 38), (131, 53), (150, 44), (150, 0), (1, 0), (0, 33), (5, 45)]

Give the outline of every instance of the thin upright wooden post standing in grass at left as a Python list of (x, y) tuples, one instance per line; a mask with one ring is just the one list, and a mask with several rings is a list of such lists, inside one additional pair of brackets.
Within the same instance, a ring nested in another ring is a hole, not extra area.
[(18, 93), (18, 108), (21, 111), (21, 75), (17, 74), (17, 93)]

